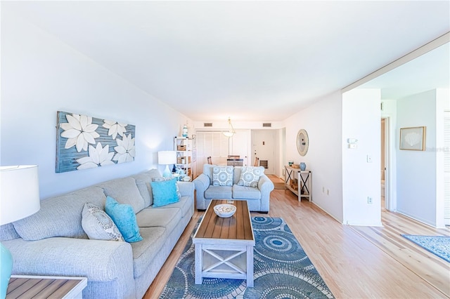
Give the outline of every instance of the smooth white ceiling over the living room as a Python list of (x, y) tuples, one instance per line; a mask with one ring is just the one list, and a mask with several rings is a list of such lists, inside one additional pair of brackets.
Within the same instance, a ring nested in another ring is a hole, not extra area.
[[(1, 10), (194, 121), (283, 120), (450, 31), (450, 1), (2, 1)], [(442, 52), (422, 67), (436, 61), (426, 82), (441, 84), (444, 72), (448, 87)], [(383, 97), (411, 86), (394, 88), (397, 77), (380, 79)]]

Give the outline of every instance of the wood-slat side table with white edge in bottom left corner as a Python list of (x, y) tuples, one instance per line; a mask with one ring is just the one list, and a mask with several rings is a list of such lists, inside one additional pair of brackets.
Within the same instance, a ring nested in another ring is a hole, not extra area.
[(6, 299), (12, 298), (83, 298), (86, 277), (51, 277), (11, 275)]

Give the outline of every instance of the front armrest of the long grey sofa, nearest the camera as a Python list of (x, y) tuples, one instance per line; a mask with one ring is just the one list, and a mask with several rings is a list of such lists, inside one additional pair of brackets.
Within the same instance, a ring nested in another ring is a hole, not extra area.
[(53, 237), (2, 244), (13, 255), (13, 274), (87, 277), (134, 285), (133, 253), (127, 242)]

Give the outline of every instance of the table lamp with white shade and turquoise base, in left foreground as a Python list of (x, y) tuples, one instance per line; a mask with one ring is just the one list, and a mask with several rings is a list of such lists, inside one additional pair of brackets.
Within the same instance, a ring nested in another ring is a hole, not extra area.
[[(28, 217), (41, 208), (37, 165), (0, 166), (0, 225)], [(0, 243), (0, 298), (6, 298), (13, 256)]]

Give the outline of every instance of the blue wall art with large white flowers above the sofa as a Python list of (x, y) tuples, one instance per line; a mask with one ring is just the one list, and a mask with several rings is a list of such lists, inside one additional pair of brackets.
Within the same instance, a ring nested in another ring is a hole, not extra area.
[(135, 126), (58, 111), (56, 173), (134, 161)]

